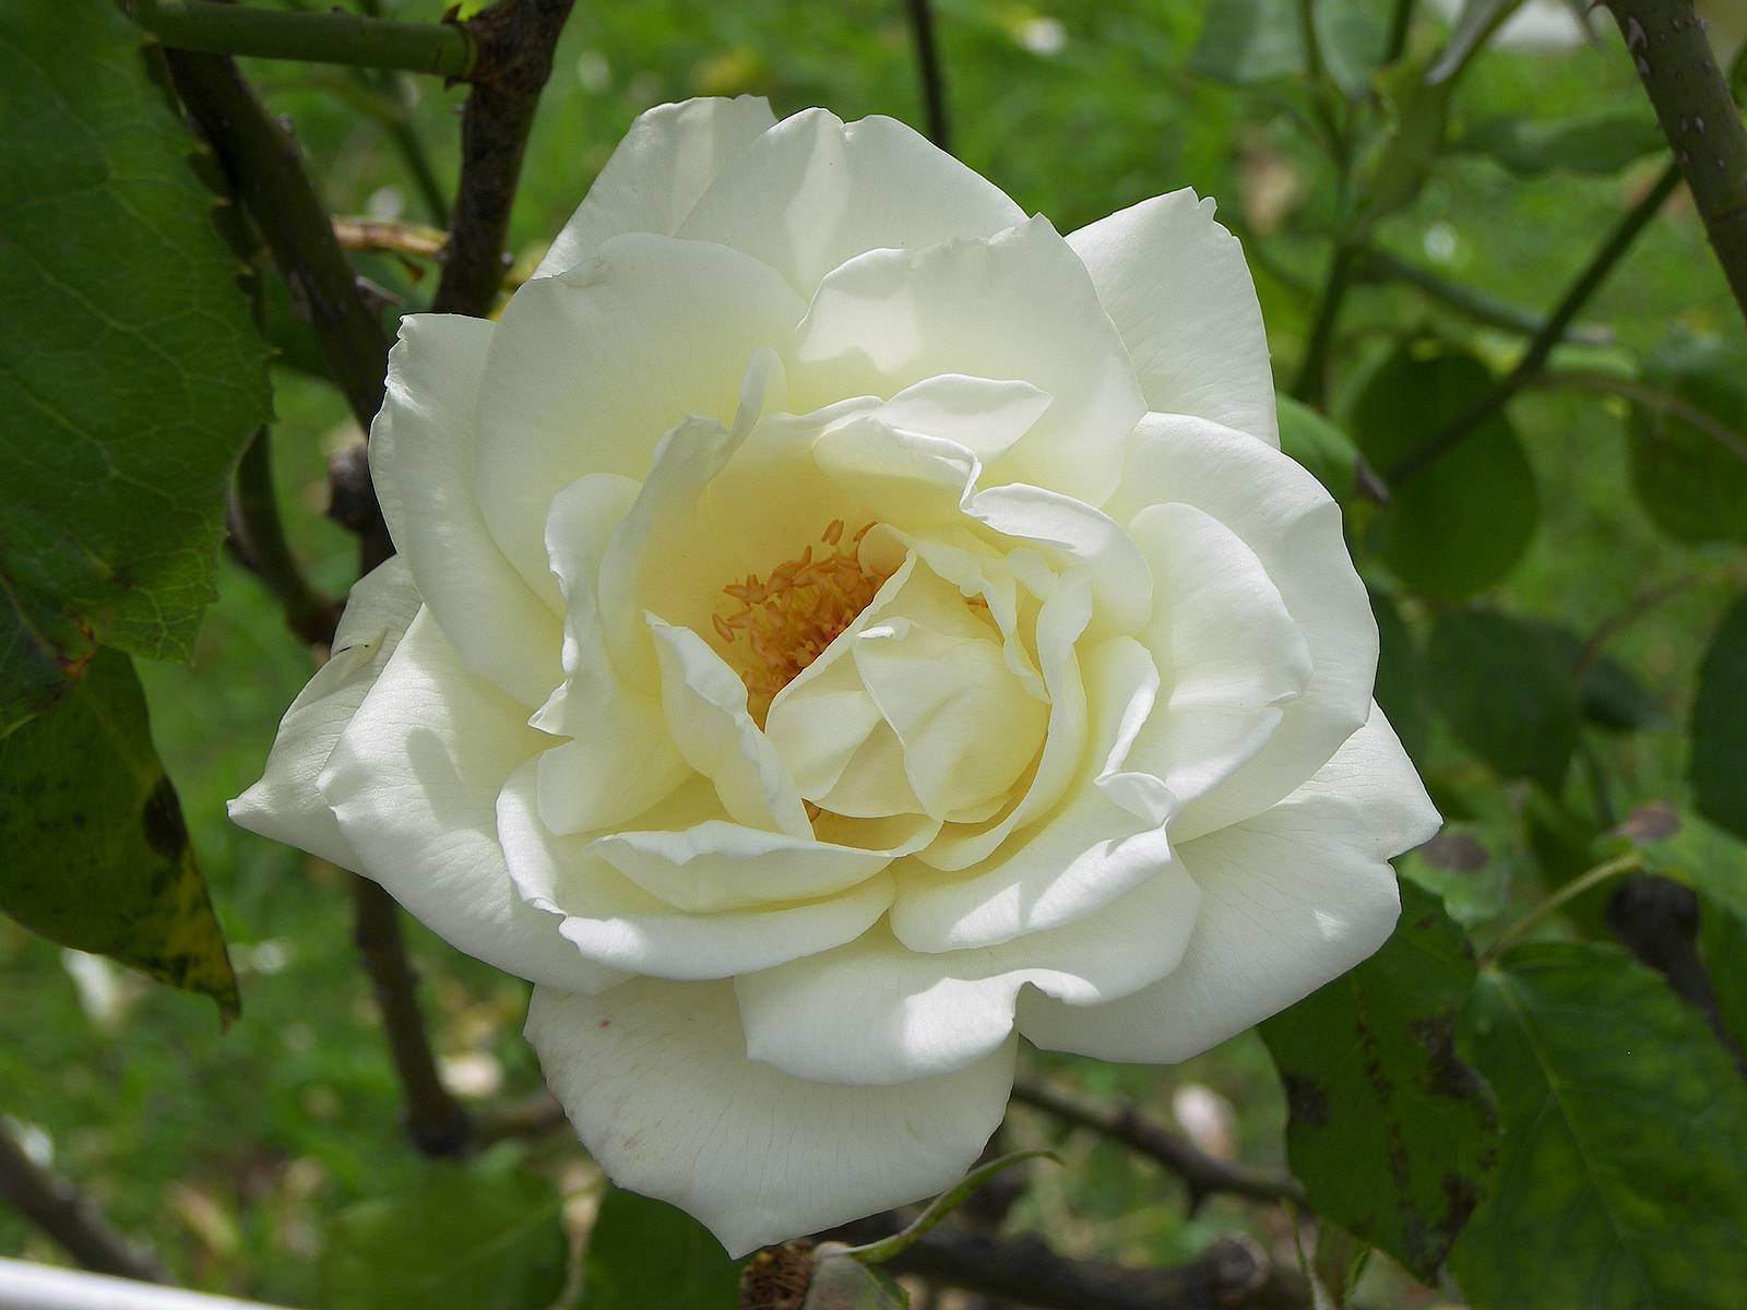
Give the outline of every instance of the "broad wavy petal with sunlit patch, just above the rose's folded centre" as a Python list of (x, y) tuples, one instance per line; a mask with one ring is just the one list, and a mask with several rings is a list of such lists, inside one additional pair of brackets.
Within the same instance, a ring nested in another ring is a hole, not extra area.
[(991, 475), (1099, 505), (1146, 410), (1085, 267), (1045, 218), (980, 241), (860, 255), (819, 285), (790, 374), (804, 403), (893, 396), (935, 374), (1010, 377), (1053, 396)]

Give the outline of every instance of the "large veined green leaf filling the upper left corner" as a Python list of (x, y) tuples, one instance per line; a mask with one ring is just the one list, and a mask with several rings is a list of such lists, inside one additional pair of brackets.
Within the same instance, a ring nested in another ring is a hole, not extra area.
[(189, 655), (269, 393), (194, 141), (117, 5), (0, 7), (0, 140), (3, 730), (94, 641)]

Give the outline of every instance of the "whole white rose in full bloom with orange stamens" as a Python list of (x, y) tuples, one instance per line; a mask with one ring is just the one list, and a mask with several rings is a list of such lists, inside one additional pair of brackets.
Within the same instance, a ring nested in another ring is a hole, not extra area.
[(889, 119), (645, 114), (501, 321), (416, 314), (238, 823), (531, 978), (732, 1252), (954, 1182), (1019, 1036), (1181, 1060), (1384, 941), (1438, 817), (1191, 192), (1069, 238)]

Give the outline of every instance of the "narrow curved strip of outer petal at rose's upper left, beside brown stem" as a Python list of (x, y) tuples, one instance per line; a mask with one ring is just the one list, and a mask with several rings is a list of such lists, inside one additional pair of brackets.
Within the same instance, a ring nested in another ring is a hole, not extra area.
[(559, 620), (486, 531), (473, 491), (473, 402), (493, 325), (407, 314), (370, 424), (370, 477), (419, 596), (473, 672), (524, 706), (557, 686)]

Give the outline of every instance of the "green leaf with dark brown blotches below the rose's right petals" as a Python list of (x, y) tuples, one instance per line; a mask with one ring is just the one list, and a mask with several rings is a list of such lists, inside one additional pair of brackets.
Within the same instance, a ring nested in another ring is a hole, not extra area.
[(1455, 1051), (1474, 983), (1438, 898), (1401, 887), (1401, 922), (1350, 973), (1261, 1024), (1286, 1086), (1286, 1151), (1310, 1209), (1431, 1282), (1490, 1186), (1497, 1116)]

